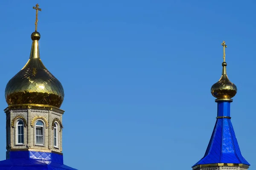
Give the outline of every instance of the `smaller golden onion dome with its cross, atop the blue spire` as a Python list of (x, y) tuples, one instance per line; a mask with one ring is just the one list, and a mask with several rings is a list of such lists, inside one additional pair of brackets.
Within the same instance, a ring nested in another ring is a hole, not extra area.
[(224, 62), (222, 62), (222, 75), (218, 82), (216, 82), (214, 85), (212, 85), (211, 93), (212, 96), (216, 97), (218, 100), (232, 100), (231, 98), (236, 95), (237, 88), (236, 85), (227, 77), (227, 63), (225, 62), (225, 48), (227, 48), (227, 45), (225, 45), (225, 42), (223, 42), (221, 45), (224, 47)]

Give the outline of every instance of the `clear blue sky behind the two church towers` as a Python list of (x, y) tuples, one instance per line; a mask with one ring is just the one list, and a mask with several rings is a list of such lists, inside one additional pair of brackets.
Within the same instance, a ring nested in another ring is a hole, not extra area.
[[(190, 169), (215, 125), (210, 88), (221, 76), (225, 40), (227, 74), (238, 88), (233, 127), (242, 155), (256, 168), (255, 1), (1, 0), (2, 109), (6, 83), (29, 59), (36, 3), (41, 59), (65, 91), (65, 164)], [(1, 160), (5, 119), (3, 112)]]

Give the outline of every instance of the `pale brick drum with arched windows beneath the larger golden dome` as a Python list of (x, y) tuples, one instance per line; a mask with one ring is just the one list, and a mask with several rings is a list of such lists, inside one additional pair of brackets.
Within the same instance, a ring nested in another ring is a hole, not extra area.
[[(6, 149), (62, 151), (62, 115), (57, 108), (37, 106), (8, 107), (6, 113)], [(12, 136), (12, 137), (11, 137)]]

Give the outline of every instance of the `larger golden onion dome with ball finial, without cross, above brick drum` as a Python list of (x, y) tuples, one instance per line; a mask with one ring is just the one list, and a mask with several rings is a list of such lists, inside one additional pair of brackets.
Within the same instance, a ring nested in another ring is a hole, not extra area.
[(31, 34), (32, 48), (26, 65), (6, 85), (5, 97), (9, 106), (38, 105), (60, 108), (64, 89), (40, 59), (39, 32)]

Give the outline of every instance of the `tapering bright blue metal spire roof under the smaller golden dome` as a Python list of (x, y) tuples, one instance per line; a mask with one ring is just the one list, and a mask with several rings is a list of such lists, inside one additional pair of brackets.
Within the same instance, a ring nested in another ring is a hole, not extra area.
[[(218, 103), (218, 116), (229, 116), (230, 103)], [(236, 135), (229, 118), (218, 118), (204, 157), (200, 164), (233, 163), (250, 165), (241, 155)]]

